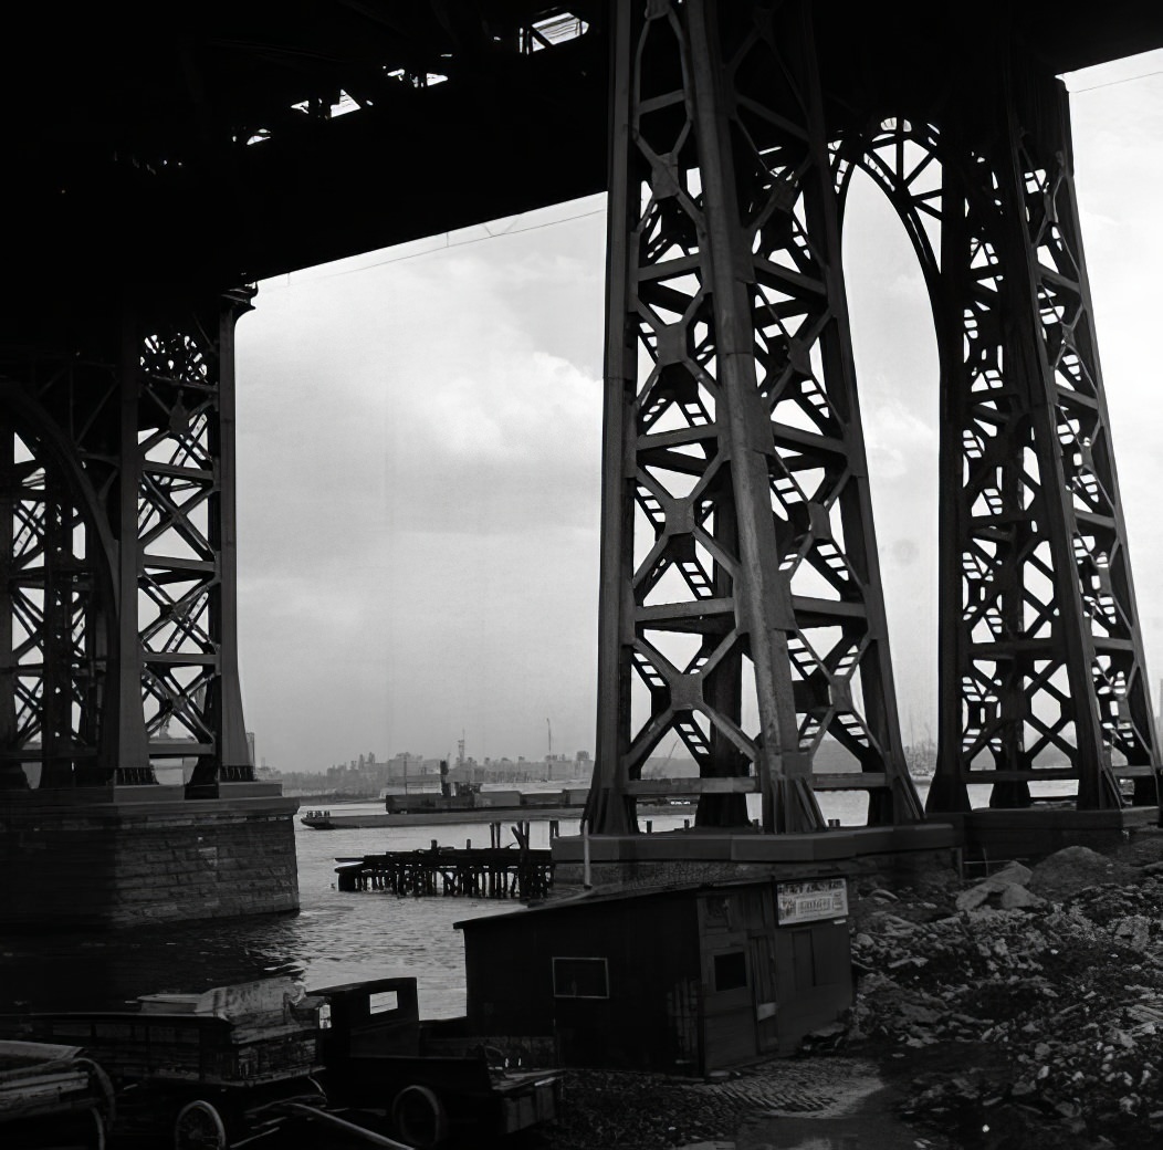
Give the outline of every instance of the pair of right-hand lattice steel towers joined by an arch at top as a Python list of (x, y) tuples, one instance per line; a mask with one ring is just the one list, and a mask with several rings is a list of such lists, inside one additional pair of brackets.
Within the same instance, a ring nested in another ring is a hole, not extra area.
[[(1059, 780), (1076, 813), (1154, 812), (1062, 83), (972, 14), (958, 65), (915, 28), (897, 59), (826, 55), (805, 0), (615, 8), (591, 830), (635, 833), (659, 794), (725, 828), (759, 794), (768, 833), (825, 829), (837, 788), (866, 792), (870, 826), (922, 819), (841, 265), (857, 170), (908, 230), (940, 347), (928, 810), (958, 817), (975, 784), (1029, 808)], [(676, 736), (699, 778), (642, 778)], [(825, 738), (855, 773), (815, 769)]]

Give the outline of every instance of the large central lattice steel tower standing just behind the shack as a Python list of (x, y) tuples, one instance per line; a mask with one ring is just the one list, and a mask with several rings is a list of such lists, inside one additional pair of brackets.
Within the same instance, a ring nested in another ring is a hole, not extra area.
[[(700, 0), (621, 20), (591, 826), (666, 790), (641, 771), (671, 733), (700, 822), (748, 824), (758, 792), (765, 829), (820, 829), (822, 787), (914, 820), (811, 27)], [(828, 735), (856, 773), (813, 776)]]

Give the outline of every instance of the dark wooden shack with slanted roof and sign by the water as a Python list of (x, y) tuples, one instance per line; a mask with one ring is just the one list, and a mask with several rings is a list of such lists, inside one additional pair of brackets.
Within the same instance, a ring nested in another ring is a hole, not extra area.
[(852, 1000), (843, 878), (588, 893), (458, 922), (468, 1027), (562, 1065), (706, 1074)]

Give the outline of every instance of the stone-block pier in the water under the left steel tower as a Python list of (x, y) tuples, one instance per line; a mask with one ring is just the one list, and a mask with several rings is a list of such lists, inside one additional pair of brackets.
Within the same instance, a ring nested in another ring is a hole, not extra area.
[(180, 786), (0, 793), (3, 929), (298, 910), (298, 807), (252, 783), (197, 799)]

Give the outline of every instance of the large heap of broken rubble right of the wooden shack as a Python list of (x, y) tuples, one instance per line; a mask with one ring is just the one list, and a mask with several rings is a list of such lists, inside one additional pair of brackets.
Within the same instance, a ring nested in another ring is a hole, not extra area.
[(950, 895), (872, 892), (855, 920), (847, 1041), (918, 1052), (906, 1115), (965, 1144), (1157, 1147), (1163, 863), (1075, 847)]

